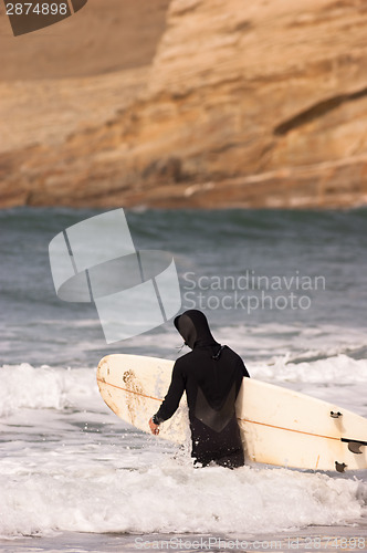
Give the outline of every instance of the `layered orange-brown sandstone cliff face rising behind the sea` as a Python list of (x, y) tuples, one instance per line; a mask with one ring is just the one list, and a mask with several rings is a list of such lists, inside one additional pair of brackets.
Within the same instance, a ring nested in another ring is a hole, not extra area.
[(366, 204), (366, 0), (172, 0), (144, 92), (0, 156), (2, 204)]

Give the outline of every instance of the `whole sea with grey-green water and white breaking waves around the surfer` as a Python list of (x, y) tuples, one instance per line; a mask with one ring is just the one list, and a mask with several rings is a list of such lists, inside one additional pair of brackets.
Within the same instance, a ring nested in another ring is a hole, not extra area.
[[(196, 546), (198, 536), (247, 540), (238, 551), (269, 551), (275, 536), (282, 551), (367, 551), (367, 471), (195, 470), (189, 445), (106, 407), (95, 379), (104, 355), (175, 359), (186, 348), (171, 321), (107, 345), (93, 304), (56, 296), (50, 241), (101, 212), (0, 211), (0, 551), (162, 550), (158, 538), (175, 536), (191, 539), (170, 542), (180, 551), (233, 551)], [(126, 217), (137, 249), (172, 253), (182, 310), (205, 311), (251, 376), (367, 417), (366, 209)], [(286, 543), (300, 535), (302, 546)]]

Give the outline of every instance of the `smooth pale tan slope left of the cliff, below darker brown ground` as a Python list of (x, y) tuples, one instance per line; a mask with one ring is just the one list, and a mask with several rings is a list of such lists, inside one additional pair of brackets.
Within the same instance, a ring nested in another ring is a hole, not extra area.
[(84, 79), (0, 82), (0, 152), (56, 146), (102, 126), (146, 85), (147, 67)]

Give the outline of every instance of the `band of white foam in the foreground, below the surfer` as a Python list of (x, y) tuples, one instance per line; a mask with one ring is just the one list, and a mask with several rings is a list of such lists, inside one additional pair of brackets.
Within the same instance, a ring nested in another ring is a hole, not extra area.
[(2, 536), (77, 532), (275, 532), (360, 517), (366, 484), (286, 469), (61, 466), (0, 477)]

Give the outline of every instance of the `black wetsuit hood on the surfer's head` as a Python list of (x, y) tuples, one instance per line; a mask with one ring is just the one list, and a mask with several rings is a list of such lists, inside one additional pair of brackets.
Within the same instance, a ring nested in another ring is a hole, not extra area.
[(217, 344), (210, 332), (208, 320), (201, 311), (185, 311), (175, 319), (175, 326), (191, 349), (196, 346)]

